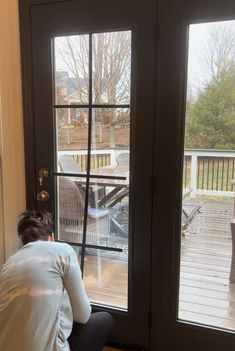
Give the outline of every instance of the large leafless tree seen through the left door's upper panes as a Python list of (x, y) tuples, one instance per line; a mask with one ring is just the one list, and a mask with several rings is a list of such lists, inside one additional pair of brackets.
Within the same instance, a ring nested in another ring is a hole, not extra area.
[[(131, 34), (129, 31), (92, 35), (92, 102), (94, 104), (128, 104), (130, 102)], [(89, 36), (59, 38), (56, 61), (73, 78), (78, 103), (89, 101)], [(59, 66), (59, 65), (58, 65)], [(104, 112), (106, 113), (104, 114)], [(108, 118), (107, 118), (108, 116)], [(122, 116), (122, 117), (120, 117)], [(97, 122), (109, 124), (110, 146), (114, 146), (114, 127), (127, 113), (117, 113), (103, 107), (97, 110)]]

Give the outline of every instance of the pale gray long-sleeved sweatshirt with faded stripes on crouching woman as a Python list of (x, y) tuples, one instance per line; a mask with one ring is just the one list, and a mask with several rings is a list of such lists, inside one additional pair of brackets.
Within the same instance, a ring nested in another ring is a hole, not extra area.
[(91, 307), (75, 251), (36, 241), (11, 256), (0, 276), (0, 350), (68, 351), (73, 320)]

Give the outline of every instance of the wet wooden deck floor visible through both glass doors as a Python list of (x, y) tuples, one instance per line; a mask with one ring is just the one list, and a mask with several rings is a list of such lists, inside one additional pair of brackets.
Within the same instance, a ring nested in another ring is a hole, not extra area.
[[(229, 282), (233, 201), (194, 201), (200, 211), (182, 235), (179, 318), (235, 329), (235, 284)], [(89, 298), (127, 308), (127, 261), (87, 256), (85, 266)]]

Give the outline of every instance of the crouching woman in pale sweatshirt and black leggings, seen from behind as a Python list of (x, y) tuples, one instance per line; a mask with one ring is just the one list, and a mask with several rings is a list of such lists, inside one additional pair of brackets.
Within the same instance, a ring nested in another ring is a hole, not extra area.
[(0, 276), (0, 350), (102, 350), (112, 316), (91, 315), (76, 253), (54, 242), (51, 215), (26, 211), (17, 231), (23, 246)]

